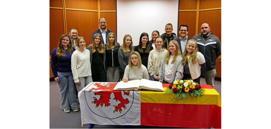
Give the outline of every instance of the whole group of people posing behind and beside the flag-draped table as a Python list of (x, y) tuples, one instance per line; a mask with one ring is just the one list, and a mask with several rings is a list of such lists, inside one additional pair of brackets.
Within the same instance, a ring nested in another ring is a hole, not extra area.
[(72, 28), (70, 35), (60, 37), (58, 47), (52, 51), (52, 71), (65, 113), (79, 110), (77, 94), (90, 82), (147, 79), (171, 83), (192, 79), (200, 83), (204, 74), (206, 84), (214, 87), (215, 60), (221, 54), (221, 44), (209, 32), (207, 23), (193, 38), (187, 36), (186, 24), (179, 27), (177, 37), (169, 23), (161, 36), (153, 31), (150, 41), (148, 34), (142, 33), (138, 46), (133, 46), (129, 34), (124, 36), (122, 45), (116, 42), (114, 32), (106, 29), (105, 18), (100, 18), (98, 24), (100, 29), (93, 32), (92, 44), (87, 48), (85, 38), (78, 37), (77, 30)]

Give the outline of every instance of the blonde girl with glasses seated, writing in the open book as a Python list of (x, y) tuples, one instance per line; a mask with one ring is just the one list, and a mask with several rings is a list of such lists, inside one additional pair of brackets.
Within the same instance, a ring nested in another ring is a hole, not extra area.
[(126, 66), (123, 76), (123, 82), (128, 80), (149, 80), (147, 68), (142, 65), (141, 57), (138, 52), (132, 52), (129, 57), (129, 65)]

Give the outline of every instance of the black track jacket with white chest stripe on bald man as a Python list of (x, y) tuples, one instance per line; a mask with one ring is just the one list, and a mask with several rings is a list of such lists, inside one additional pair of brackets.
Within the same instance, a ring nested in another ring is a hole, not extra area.
[(194, 36), (193, 39), (197, 41), (199, 52), (204, 55), (206, 70), (214, 70), (216, 68), (216, 59), (221, 55), (221, 43), (218, 37), (209, 32), (206, 41), (201, 33)]

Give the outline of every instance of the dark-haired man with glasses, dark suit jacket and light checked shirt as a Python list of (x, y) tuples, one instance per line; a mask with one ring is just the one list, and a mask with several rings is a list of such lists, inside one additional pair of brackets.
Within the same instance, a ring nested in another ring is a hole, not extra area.
[(180, 38), (176, 38), (174, 40), (176, 40), (178, 42), (181, 54), (183, 54), (187, 41), (189, 39), (192, 39), (192, 38), (187, 36), (187, 34), (188, 34), (188, 26), (186, 24), (182, 24), (179, 27), (179, 34), (180, 34)]

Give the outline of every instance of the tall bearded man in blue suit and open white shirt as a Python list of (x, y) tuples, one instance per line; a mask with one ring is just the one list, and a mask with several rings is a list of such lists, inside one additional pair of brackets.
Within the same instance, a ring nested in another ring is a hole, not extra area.
[(100, 26), (100, 29), (98, 29), (97, 31), (95, 31), (95, 32), (92, 33), (91, 42), (92, 42), (92, 38), (93, 38), (94, 34), (98, 33), (102, 37), (103, 44), (106, 44), (107, 43), (107, 36), (108, 36), (108, 34), (110, 32), (113, 32), (113, 31), (111, 31), (109, 29), (106, 29), (107, 22), (106, 22), (106, 19), (104, 17), (101, 17), (99, 19), (99, 26)]

